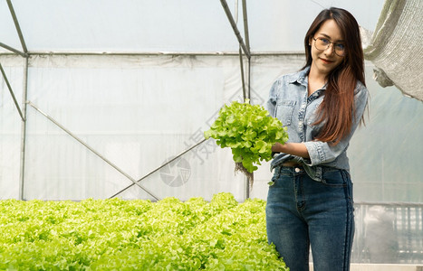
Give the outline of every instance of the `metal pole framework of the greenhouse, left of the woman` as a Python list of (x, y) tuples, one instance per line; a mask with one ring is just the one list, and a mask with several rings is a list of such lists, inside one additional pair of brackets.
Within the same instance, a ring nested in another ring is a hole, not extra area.
[[(203, 143), (205, 143), (207, 140), (204, 139), (201, 142), (198, 142), (196, 145), (192, 145), (191, 147), (187, 148), (187, 150), (185, 150), (184, 152), (178, 154), (177, 156), (175, 156), (173, 159), (169, 160), (166, 164), (162, 164), (160, 165), (158, 168), (156, 168), (155, 170), (153, 170), (152, 172), (144, 175), (143, 177), (139, 178), (139, 180), (134, 179), (133, 177), (131, 177), (128, 173), (123, 172), (116, 164), (112, 164), (110, 160), (108, 160), (107, 158), (105, 158), (104, 156), (102, 156), (100, 153), (98, 153), (96, 150), (94, 150), (90, 145), (87, 145), (86, 143), (84, 143), (82, 141), (81, 138), (79, 138), (77, 135), (74, 135), (70, 130), (66, 129), (64, 126), (62, 126), (59, 122), (57, 122), (55, 119), (53, 119), (53, 117), (50, 117), (48, 114), (44, 113), (42, 111), (42, 109), (40, 109), (39, 107), (35, 106), (34, 103), (32, 103), (31, 101), (27, 100), (27, 88), (28, 88), (28, 68), (29, 68), (29, 58), (31, 57), (31, 55), (239, 55), (239, 60), (240, 60), (240, 70), (241, 70), (241, 77), (242, 77), (242, 84), (243, 84), (243, 97), (245, 100), (247, 100), (248, 98), (250, 98), (250, 61), (251, 61), (251, 57), (253, 55), (255, 56), (260, 56), (260, 55), (287, 55), (287, 54), (303, 54), (303, 52), (298, 52), (298, 51), (293, 51), (293, 52), (289, 52), (289, 51), (284, 51), (284, 52), (258, 52), (258, 53), (252, 53), (250, 51), (250, 44), (249, 44), (249, 34), (248, 34), (248, 21), (247, 21), (247, 13), (246, 13), (246, 0), (242, 0), (242, 7), (243, 7), (243, 19), (244, 19), (244, 30), (245, 30), (245, 42), (243, 40), (243, 37), (241, 36), (241, 34), (239, 33), (239, 30), (237, 28), (236, 22), (234, 20), (234, 17), (231, 14), (231, 11), (229, 10), (226, 0), (221, 0), (221, 4), (224, 8), (224, 11), (226, 13), (226, 16), (229, 20), (229, 23), (231, 24), (234, 33), (236, 34), (236, 38), (239, 42), (239, 51), (238, 52), (210, 52), (210, 51), (206, 51), (206, 52), (119, 52), (119, 51), (115, 51), (115, 52), (91, 52), (91, 51), (65, 51), (65, 52), (52, 52), (52, 51), (28, 51), (27, 47), (26, 47), (26, 43), (24, 41), (24, 34), (22, 33), (22, 29), (19, 25), (19, 21), (18, 18), (14, 12), (14, 6), (12, 5), (12, 1), (11, 0), (6, 0), (7, 5), (9, 7), (9, 11), (12, 15), (12, 18), (14, 20), (14, 26), (16, 29), (16, 32), (19, 35), (19, 40), (21, 42), (21, 46), (22, 46), (22, 51), (17, 50), (11, 46), (6, 45), (5, 43), (1, 43), (0, 42), (0, 47), (5, 48), (8, 51), (11, 52), (0, 52), (0, 55), (7, 55), (7, 54), (12, 54), (12, 55), (20, 55), (22, 56), (25, 61), (24, 61), (24, 89), (23, 89), (23, 97), (22, 97), (22, 110), (21, 107), (19, 106), (15, 96), (14, 96), (14, 91), (10, 86), (10, 83), (5, 75), (5, 70), (3, 69), (3, 67), (0, 64), (0, 70), (3, 74), (3, 77), (5, 79), (7, 88), (9, 89), (9, 92), (11, 93), (13, 99), (14, 99), (14, 104), (15, 107), (17, 108), (19, 115), (22, 119), (22, 126), (21, 126), (21, 157), (20, 157), (20, 176), (19, 176), (19, 200), (25, 200), (24, 199), (24, 168), (25, 168), (25, 145), (26, 145), (26, 117), (27, 117), (27, 106), (29, 105), (30, 107), (33, 107), (38, 113), (42, 114), (43, 117), (46, 117), (48, 120), (50, 120), (55, 126), (60, 127), (65, 133), (67, 133), (68, 135), (71, 135), (76, 141), (78, 141), (80, 144), (84, 145), (87, 149), (89, 149), (93, 154), (96, 154), (97, 156), (99, 156), (104, 162), (106, 162), (107, 164), (110, 164), (111, 167), (113, 167), (115, 170), (117, 170), (119, 173), (123, 174), (126, 178), (128, 178), (132, 183), (127, 186), (126, 188), (122, 189), (120, 192), (116, 192), (114, 195), (111, 196), (115, 197), (117, 195), (119, 195), (121, 192), (126, 191), (127, 189), (129, 189), (130, 187), (137, 185), (139, 186), (140, 189), (144, 190), (145, 192), (149, 193), (150, 196), (152, 196), (153, 198), (155, 198), (156, 200), (159, 200), (159, 197), (154, 195), (152, 192), (149, 192), (145, 187), (143, 187), (141, 184), (139, 184), (139, 182), (142, 182), (144, 179), (146, 179), (147, 177), (149, 177), (149, 175), (151, 175), (152, 173), (156, 173), (159, 171), (159, 169), (161, 169), (162, 167), (164, 167), (167, 164), (172, 163), (173, 161), (175, 161), (176, 159), (178, 159), (180, 156), (187, 154), (187, 152), (193, 150), (194, 148), (196, 148), (198, 145), (201, 145)], [(237, 2), (236, 2), (236, 8), (237, 8)], [(245, 72), (245, 63), (244, 63), (244, 57), (246, 57), (246, 72)], [(249, 187), (250, 187), (250, 180), (247, 178), (246, 179), (246, 186), (245, 186), (245, 198), (249, 198)]]

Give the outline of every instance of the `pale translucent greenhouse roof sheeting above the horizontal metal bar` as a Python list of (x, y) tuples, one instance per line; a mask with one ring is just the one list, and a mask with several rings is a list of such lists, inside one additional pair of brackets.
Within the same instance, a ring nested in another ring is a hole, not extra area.
[[(24, 1), (0, 3), (0, 42), (29, 52), (222, 52), (238, 42), (222, 3), (226, 1)], [(239, 2), (239, 3), (238, 3)], [(227, 1), (244, 35), (241, 1)], [(373, 30), (382, 1), (249, 1), (252, 51), (303, 51), (312, 18), (331, 5), (348, 9)], [(12, 12), (11, 12), (12, 11)], [(12, 16), (15, 15), (15, 20)], [(246, 18), (246, 17), (245, 17)], [(5, 52), (0, 48), (0, 52)]]

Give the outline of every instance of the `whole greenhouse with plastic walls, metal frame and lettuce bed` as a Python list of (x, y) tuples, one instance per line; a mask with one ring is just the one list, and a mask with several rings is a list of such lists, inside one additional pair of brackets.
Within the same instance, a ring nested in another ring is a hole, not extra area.
[[(351, 270), (422, 270), (420, 0), (0, 2), (0, 239), (10, 241), (0, 269), (277, 270), (265, 245), (270, 162), (254, 180), (235, 173), (231, 150), (204, 132), (233, 101), (265, 107), (274, 80), (303, 67), (304, 34), (331, 6), (361, 26), (370, 91), (348, 148)], [(91, 211), (114, 238), (86, 224)], [(130, 214), (167, 219), (126, 231), (140, 223)], [(139, 245), (152, 232), (157, 244)], [(207, 246), (193, 241), (206, 235)], [(118, 255), (108, 247), (127, 261), (108, 266)], [(151, 254), (165, 249), (173, 258)]]

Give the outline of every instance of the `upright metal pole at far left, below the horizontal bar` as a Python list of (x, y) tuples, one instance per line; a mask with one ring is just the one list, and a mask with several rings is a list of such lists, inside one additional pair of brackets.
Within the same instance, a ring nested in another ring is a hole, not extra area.
[(24, 63), (24, 93), (22, 96), (22, 108), (24, 121), (21, 124), (21, 169), (19, 172), (19, 200), (24, 200), (24, 173), (25, 173), (25, 144), (26, 144), (26, 99), (28, 96), (28, 58)]

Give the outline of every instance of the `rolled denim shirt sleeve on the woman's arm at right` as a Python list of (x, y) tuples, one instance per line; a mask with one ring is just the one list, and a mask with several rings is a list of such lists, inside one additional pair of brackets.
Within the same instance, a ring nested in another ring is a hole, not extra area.
[(354, 91), (355, 102), (355, 116), (351, 126), (349, 135), (341, 139), (337, 145), (331, 145), (322, 141), (308, 141), (304, 142), (305, 147), (310, 155), (310, 159), (302, 159), (304, 164), (314, 166), (317, 164), (326, 164), (334, 161), (339, 155), (344, 153), (350, 145), (350, 140), (354, 134), (357, 126), (359, 126), (361, 117), (363, 116), (364, 109), (366, 108), (369, 98), (369, 91), (360, 82)]

